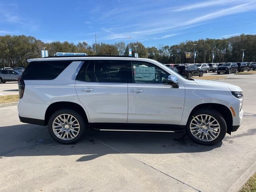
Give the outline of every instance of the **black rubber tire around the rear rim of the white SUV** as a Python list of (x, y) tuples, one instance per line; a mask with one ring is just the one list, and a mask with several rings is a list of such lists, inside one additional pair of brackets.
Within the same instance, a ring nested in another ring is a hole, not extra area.
[[(52, 129), (52, 125), (53, 125), (54, 119), (57, 116), (61, 115), (61, 114), (70, 114), (70, 115), (74, 116), (77, 119), (78, 123), (79, 123), (80, 130), (79, 130), (77, 136), (74, 139), (72, 139), (72, 140), (62, 140), (58, 136), (56, 136), (54, 134), (54, 131)], [(54, 140), (56, 140), (57, 142), (60, 142), (62, 144), (72, 144), (72, 143), (75, 143), (78, 140), (80, 140), (80, 138), (82, 138), (82, 136), (84, 135), (84, 132), (85, 132), (85, 122), (84, 122), (84, 119), (82, 118), (82, 116), (78, 112), (76, 112), (76, 111), (74, 111), (74, 110), (72, 110), (70, 108), (63, 108), (63, 109), (60, 109), (60, 110), (54, 112), (52, 114), (52, 116), (50, 117), (50, 119), (48, 121), (48, 131), (49, 131), (50, 135), (52, 136), (52, 138)]]

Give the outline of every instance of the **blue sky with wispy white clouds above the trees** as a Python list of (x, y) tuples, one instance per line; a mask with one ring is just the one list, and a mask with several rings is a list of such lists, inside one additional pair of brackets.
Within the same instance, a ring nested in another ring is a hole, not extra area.
[(44, 42), (172, 45), (256, 34), (256, 0), (1, 0), (0, 35)]

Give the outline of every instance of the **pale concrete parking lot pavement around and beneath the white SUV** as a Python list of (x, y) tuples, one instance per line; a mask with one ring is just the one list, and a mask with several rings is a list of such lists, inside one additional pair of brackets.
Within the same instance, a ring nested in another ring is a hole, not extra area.
[(0, 191), (236, 191), (256, 170), (256, 75), (223, 76), (244, 92), (244, 119), (215, 146), (184, 134), (92, 130), (62, 145), (46, 127), (21, 123), (16, 106), (0, 108)]

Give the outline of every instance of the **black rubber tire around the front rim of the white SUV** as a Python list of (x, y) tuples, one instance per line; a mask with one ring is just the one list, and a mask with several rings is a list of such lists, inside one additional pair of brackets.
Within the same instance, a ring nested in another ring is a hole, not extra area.
[[(206, 114), (206, 115), (212, 116), (213, 118), (215, 118), (218, 121), (218, 124), (220, 125), (220, 133), (212, 141), (199, 140), (198, 138), (193, 136), (192, 132), (190, 131), (190, 122), (192, 121), (192, 119), (194, 117), (196, 117), (200, 114)], [(223, 140), (223, 138), (225, 137), (226, 132), (227, 132), (227, 125), (226, 125), (226, 121), (225, 121), (224, 117), (218, 111), (216, 111), (214, 109), (199, 109), (190, 115), (187, 125), (186, 125), (186, 132), (187, 132), (188, 136), (196, 143), (199, 143), (202, 145), (215, 145), (215, 144), (218, 144), (219, 142), (221, 142)]]

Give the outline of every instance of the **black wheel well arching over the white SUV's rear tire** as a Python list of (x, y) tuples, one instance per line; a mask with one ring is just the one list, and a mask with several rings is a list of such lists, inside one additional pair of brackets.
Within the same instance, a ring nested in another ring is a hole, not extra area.
[(47, 125), (50, 116), (56, 112), (57, 110), (60, 110), (62, 108), (70, 108), (75, 110), (76, 112), (78, 112), (82, 118), (84, 118), (84, 122), (88, 123), (88, 118), (86, 116), (86, 113), (84, 111), (84, 109), (82, 108), (82, 106), (80, 106), (77, 103), (73, 103), (73, 102), (55, 102), (50, 104), (50, 106), (48, 106), (46, 112), (45, 112), (45, 116), (44, 116), (44, 124)]

